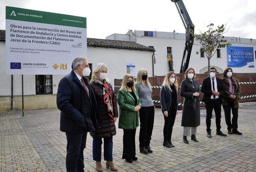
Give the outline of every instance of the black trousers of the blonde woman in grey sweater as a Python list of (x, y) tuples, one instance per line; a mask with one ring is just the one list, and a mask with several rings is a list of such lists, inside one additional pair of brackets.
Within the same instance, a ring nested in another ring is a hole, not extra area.
[(140, 110), (140, 147), (148, 146), (151, 141), (154, 126), (155, 108), (154, 106), (141, 107)]

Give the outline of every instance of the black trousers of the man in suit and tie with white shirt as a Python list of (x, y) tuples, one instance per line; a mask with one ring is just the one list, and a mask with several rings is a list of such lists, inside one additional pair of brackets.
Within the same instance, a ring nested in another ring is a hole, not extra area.
[(211, 119), (212, 119), (212, 110), (214, 109), (215, 117), (216, 117), (216, 130), (220, 131), (221, 129), (221, 101), (210, 100), (209, 103), (205, 105), (206, 107), (206, 131), (211, 132)]

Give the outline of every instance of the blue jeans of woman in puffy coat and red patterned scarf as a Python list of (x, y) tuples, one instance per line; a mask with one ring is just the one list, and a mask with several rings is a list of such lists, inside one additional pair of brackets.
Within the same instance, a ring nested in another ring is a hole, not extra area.
[[(104, 160), (113, 161), (113, 137), (105, 137), (104, 140)], [(102, 138), (93, 138), (92, 157), (94, 161), (101, 161)]]

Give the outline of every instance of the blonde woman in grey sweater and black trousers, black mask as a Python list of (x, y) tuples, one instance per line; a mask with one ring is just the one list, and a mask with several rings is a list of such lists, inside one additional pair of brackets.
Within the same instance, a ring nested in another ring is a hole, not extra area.
[(151, 98), (151, 84), (148, 81), (147, 70), (142, 68), (138, 70), (137, 78), (135, 82), (135, 88), (140, 97), (142, 107), (140, 109), (140, 153), (148, 154), (152, 153), (152, 149), (149, 146), (152, 130), (154, 126), (155, 109), (154, 103)]

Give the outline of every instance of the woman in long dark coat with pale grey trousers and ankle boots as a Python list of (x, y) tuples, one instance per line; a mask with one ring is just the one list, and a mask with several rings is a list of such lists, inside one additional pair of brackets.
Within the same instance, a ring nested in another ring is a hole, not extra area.
[(185, 79), (180, 85), (180, 95), (184, 97), (181, 126), (183, 126), (183, 142), (188, 144), (187, 136), (191, 140), (198, 142), (196, 138), (197, 127), (200, 125), (200, 95), (199, 85), (193, 68), (188, 68), (185, 72)]

